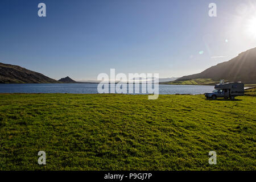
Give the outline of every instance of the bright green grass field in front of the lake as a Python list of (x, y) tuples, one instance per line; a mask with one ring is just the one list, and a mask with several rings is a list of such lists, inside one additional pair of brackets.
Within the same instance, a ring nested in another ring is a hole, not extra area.
[(256, 97), (238, 99), (0, 94), (0, 170), (255, 170)]

